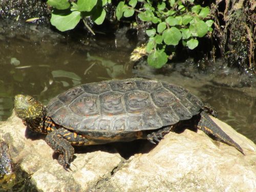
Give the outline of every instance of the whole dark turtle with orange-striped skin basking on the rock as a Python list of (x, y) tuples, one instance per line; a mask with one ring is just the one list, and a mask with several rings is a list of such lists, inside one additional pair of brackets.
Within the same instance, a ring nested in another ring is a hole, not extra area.
[(63, 92), (48, 105), (29, 95), (16, 95), (15, 114), (28, 129), (47, 134), (46, 142), (58, 153), (66, 170), (79, 145), (147, 139), (156, 144), (188, 119), (197, 129), (237, 148), (210, 118), (215, 111), (197, 96), (170, 82), (143, 78), (81, 84)]

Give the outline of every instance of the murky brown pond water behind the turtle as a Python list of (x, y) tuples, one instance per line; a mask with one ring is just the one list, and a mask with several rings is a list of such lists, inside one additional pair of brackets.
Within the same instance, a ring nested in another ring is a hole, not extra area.
[[(212, 105), (221, 120), (256, 142), (255, 87), (231, 88), (229, 83), (219, 82), (222, 76), (213, 80), (214, 73), (187, 73), (177, 64), (168, 70), (133, 70), (129, 61), (133, 45), (125, 38), (74, 41), (43, 28), (28, 31), (0, 33), (0, 120), (10, 116), (16, 94), (29, 94), (47, 103), (77, 84), (137, 75), (184, 86)], [(185, 67), (189, 68), (194, 70), (191, 65)]]

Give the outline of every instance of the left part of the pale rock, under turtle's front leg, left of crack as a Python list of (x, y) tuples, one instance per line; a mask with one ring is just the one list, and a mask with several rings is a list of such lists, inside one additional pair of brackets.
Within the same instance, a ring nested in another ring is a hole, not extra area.
[[(0, 137), (8, 141), (14, 163), (31, 175), (31, 183), (42, 191), (82, 191), (109, 177), (122, 158), (118, 153), (94, 151), (75, 154), (72, 171), (63, 169), (43, 137), (26, 132), (22, 121), (12, 115), (0, 123)], [(26, 138), (25, 135), (28, 137)]]

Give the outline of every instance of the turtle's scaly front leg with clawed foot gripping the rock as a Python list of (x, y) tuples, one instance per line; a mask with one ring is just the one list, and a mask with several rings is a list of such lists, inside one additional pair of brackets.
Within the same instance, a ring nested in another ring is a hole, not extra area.
[(67, 170), (74, 155), (74, 147), (65, 138), (65, 134), (67, 134), (66, 129), (55, 130), (46, 136), (46, 142), (54, 152), (59, 153), (58, 163)]

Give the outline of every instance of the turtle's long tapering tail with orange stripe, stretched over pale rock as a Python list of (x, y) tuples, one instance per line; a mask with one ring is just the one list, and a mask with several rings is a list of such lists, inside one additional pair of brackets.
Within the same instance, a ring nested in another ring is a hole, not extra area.
[(222, 142), (235, 147), (239, 152), (245, 155), (241, 146), (239, 146), (239, 144), (234, 142), (224, 131), (222, 131), (221, 128), (214, 121), (212, 121), (209, 115), (206, 114), (204, 111), (201, 112), (201, 118), (198, 122), (197, 127), (199, 130), (202, 130), (207, 135), (213, 135)]

